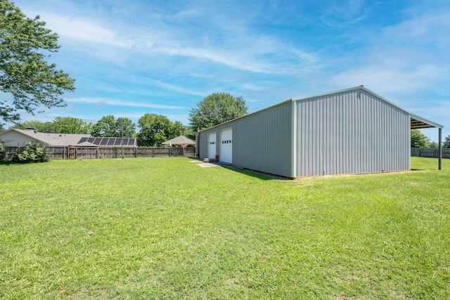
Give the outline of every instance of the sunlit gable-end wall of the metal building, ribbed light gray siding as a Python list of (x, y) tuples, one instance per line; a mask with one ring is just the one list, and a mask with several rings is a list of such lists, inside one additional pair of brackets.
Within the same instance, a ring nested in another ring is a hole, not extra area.
[(410, 169), (410, 115), (361, 89), (295, 101), (296, 176)]

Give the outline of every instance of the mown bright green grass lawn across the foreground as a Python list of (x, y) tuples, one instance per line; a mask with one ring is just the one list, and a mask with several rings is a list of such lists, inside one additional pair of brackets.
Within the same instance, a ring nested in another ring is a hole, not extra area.
[(0, 164), (0, 298), (450, 298), (449, 159), (298, 181), (190, 160)]

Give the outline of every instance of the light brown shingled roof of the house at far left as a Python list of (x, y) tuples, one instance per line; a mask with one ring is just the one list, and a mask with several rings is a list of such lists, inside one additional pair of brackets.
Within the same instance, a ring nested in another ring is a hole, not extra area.
[(7, 133), (11, 132), (19, 133), (20, 135), (32, 138), (35, 141), (38, 141), (39, 143), (44, 143), (51, 146), (75, 145), (78, 143), (80, 138), (90, 136), (89, 134), (44, 133), (32, 130), (8, 129), (6, 131), (0, 132), (0, 138), (1, 136), (4, 136)]

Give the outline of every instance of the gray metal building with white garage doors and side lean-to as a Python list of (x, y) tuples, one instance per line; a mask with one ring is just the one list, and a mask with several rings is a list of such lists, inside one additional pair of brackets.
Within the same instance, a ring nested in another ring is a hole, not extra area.
[[(411, 169), (410, 131), (442, 125), (364, 86), (288, 100), (200, 131), (200, 159), (287, 177)], [(439, 150), (440, 152), (440, 150)], [(439, 169), (441, 161), (439, 158)]]

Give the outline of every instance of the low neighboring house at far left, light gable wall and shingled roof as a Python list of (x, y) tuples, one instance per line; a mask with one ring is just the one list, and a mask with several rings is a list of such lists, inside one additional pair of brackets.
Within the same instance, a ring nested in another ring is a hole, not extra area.
[(27, 143), (31, 140), (51, 146), (75, 145), (78, 143), (80, 138), (89, 136), (89, 134), (44, 133), (23, 129), (8, 129), (0, 133), (0, 139), (4, 141), (8, 141), (9, 138), (10, 140), (13, 140), (15, 143), (17, 143), (18, 139), (22, 138), (23, 143)]

